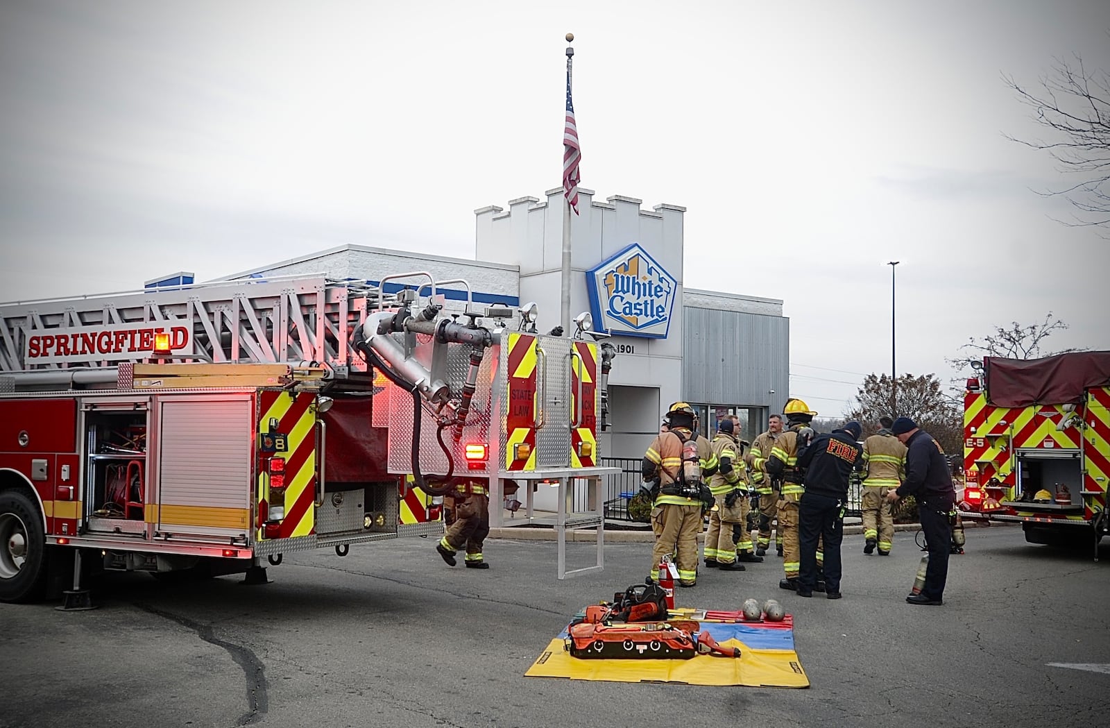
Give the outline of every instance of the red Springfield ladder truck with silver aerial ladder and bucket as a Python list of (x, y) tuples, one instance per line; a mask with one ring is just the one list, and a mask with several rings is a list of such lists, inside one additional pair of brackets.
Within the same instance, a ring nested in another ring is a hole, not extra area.
[(284, 553), (440, 535), (438, 496), (474, 483), (494, 526), (513, 486), (593, 486), (553, 525), (559, 578), (571, 527), (597, 527), (577, 570), (602, 568), (613, 347), (588, 315), (538, 334), (534, 304), (468, 292), (418, 272), (0, 305), (0, 600), (82, 608), (100, 567), (261, 583)]

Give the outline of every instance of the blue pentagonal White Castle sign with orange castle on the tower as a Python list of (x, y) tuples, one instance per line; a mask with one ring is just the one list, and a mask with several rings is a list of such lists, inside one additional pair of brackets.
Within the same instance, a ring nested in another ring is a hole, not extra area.
[(638, 243), (587, 271), (586, 285), (598, 331), (667, 337), (678, 281)]

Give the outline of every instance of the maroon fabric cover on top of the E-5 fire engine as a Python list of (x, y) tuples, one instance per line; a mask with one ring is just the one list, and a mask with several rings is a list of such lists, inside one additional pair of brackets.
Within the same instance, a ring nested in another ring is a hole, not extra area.
[(1110, 352), (1072, 352), (1045, 358), (983, 360), (987, 398), (999, 407), (1079, 404), (1083, 391), (1110, 385)]

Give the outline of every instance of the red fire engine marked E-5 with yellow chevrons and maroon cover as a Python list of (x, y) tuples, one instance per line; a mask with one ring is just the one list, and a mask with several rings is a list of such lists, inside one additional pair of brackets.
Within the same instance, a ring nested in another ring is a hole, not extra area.
[(1020, 523), (1031, 544), (1110, 533), (1110, 352), (987, 357), (963, 397), (965, 517)]

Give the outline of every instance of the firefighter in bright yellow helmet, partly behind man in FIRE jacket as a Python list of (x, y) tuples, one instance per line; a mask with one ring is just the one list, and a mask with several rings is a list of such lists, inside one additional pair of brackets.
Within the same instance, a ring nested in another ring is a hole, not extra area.
[[(784, 407), (786, 414), (787, 429), (775, 442), (770, 457), (764, 465), (766, 472), (771, 476), (783, 478), (783, 487), (779, 495), (778, 527), (783, 532), (783, 572), (786, 578), (778, 585), (784, 589), (797, 590), (798, 572), (801, 568), (801, 556), (798, 548), (798, 501), (805, 493), (805, 473), (798, 468), (798, 455), (813, 442), (814, 431), (809, 426), (817, 414), (809, 410), (801, 400), (790, 400)], [(824, 562), (821, 546), (817, 546), (817, 560), (820, 566)], [(824, 589), (824, 584), (818, 583), (817, 590)]]

